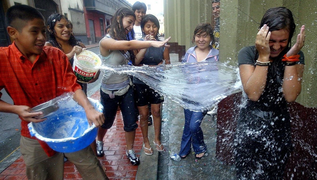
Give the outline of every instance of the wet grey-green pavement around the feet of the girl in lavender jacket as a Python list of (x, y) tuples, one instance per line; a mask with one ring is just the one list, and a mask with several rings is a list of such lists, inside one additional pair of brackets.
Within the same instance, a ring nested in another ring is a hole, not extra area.
[(191, 152), (185, 159), (176, 162), (169, 158), (168, 152), (179, 152), (184, 129), (184, 109), (176, 102), (165, 100), (162, 114), (162, 119), (166, 118), (168, 121), (162, 122), (161, 141), (166, 152), (159, 154), (159, 180), (236, 179), (234, 167), (223, 164), (215, 157), (217, 117), (206, 115), (201, 124), (208, 156), (196, 159), (195, 154)]

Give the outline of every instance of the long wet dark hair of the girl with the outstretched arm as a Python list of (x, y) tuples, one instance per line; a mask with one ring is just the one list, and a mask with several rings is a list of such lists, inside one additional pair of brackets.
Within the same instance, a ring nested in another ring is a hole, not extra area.
[[(111, 38), (115, 40), (127, 40), (126, 30), (123, 27), (122, 19), (124, 17), (133, 16), (135, 17), (134, 12), (131, 9), (121, 7), (119, 8), (113, 15), (111, 27), (109, 30), (109, 35)], [(119, 22), (117, 21), (117, 17), (119, 17)], [(132, 33), (132, 38), (134, 39), (134, 35)], [(120, 51), (122, 54), (126, 54), (124, 51)], [(133, 50), (128, 50), (127, 52), (130, 53), (130, 59), (132, 63), (134, 63), (134, 53)]]

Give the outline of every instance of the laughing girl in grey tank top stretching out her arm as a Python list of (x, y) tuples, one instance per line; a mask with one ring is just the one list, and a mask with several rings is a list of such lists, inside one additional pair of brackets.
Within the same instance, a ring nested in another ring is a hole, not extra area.
[[(120, 8), (113, 15), (109, 34), (100, 40), (100, 55), (103, 65), (127, 65), (129, 59), (134, 62), (133, 50), (148, 47), (164, 47), (170, 38), (165, 41), (127, 41), (128, 34), (135, 22), (134, 12), (128, 8)], [(113, 72), (106, 72), (102, 78), (100, 87), (100, 101), (103, 105), (103, 113), (106, 117), (105, 123), (98, 130), (97, 154), (103, 155), (103, 138), (113, 125), (118, 106), (121, 109), (126, 137), (126, 156), (133, 165), (139, 165), (139, 158), (133, 151), (135, 129), (138, 127), (135, 122), (134, 97), (132, 82), (128, 75), (120, 75)]]

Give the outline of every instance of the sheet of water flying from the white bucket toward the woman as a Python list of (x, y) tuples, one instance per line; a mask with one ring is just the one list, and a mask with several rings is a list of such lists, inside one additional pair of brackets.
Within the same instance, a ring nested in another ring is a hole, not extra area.
[(100, 69), (139, 78), (165, 98), (192, 111), (209, 110), (242, 89), (238, 69), (217, 61), (155, 67), (102, 65)]

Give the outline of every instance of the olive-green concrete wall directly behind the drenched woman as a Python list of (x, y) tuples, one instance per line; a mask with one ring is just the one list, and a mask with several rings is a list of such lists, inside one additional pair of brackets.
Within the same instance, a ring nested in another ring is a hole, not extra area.
[[(305, 54), (305, 71), (302, 92), (297, 102), (307, 107), (317, 107), (317, 1), (316, 0), (223, 0), (220, 14), (220, 60), (229, 60), (237, 65), (239, 50), (255, 44), (256, 34), (265, 11), (284, 6), (293, 13), (296, 31), (292, 44), (296, 42), (299, 28), (305, 25), (306, 40), (302, 51)], [(239, 8), (239, 9), (237, 9)], [(247, 16), (247, 15), (248, 16)], [(252, 18), (252, 19), (251, 19)], [(258, 23), (257, 23), (258, 22)], [(223, 36), (223, 34), (226, 34)], [(224, 50), (223, 50), (224, 49)]]

